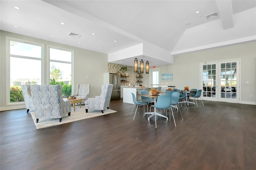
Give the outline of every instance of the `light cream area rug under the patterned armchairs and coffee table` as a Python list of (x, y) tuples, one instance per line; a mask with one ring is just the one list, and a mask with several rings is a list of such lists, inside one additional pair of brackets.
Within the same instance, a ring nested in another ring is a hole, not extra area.
[(68, 114), (67, 114), (65, 117), (62, 118), (61, 122), (60, 122), (59, 118), (52, 118), (52, 119), (47, 118), (47, 119), (39, 119), (38, 123), (36, 123), (35, 113), (30, 112), (30, 114), (31, 114), (31, 116), (34, 120), (34, 124), (36, 125), (36, 129), (42, 129), (42, 128), (48, 128), (48, 127), (51, 127), (51, 126), (57, 126), (57, 125), (60, 125), (60, 124), (75, 122), (75, 121), (78, 121), (78, 120), (84, 120), (84, 119), (88, 119), (88, 118), (94, 118), (94, 117), (97, 117), (97, 116), (111, 114), (111, 113), (115, 113), (116, 111), (106, 109), (103, 112), (104, 113), (102, 113), (101, 110), (88, 110), (88, 113), (86, 113), (84, 106), (82, 106), (81, 108), (79, 108), (79, 106), (76, 106), (76, 112), (74, 112), (74, 108), (72, 108), (70, 116), (68, 116)]

